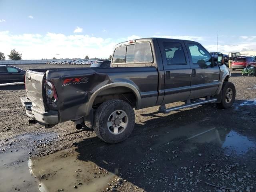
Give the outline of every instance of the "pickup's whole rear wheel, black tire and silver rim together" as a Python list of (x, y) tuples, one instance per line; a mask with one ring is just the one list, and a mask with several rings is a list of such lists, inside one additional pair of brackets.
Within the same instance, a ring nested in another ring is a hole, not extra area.
[(109, 100), (96, 110), (94, 131), (107, 143), (118, 143), (130, 136), (134, 128), (135, 114), (132, 106), (123, 100)]

